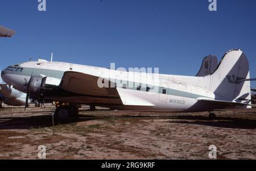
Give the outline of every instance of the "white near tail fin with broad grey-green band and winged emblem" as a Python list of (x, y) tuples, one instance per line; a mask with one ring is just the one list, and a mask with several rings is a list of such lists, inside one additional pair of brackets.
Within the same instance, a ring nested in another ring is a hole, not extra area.
[(249, 62), (240, 50), (231, 50), (222, 57), (217, 69), (211, 75), (211, 89), (216, 98), (228, 101), (250, 103)]

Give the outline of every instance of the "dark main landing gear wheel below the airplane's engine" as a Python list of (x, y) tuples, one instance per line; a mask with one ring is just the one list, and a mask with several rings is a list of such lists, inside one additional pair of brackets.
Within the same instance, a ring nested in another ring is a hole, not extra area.
[(56, 119), (77, 118), (79, 114), (79, 105), (55, 102), (56, 110), (54, 116)]

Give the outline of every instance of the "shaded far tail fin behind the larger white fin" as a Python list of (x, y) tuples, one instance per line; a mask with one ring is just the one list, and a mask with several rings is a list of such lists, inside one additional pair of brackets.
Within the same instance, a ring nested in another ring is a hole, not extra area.
[(218, 66), (218, 59), (216, 56), (209, 55), (204, 58), (199, 72), (196, 77), (204, 77), (213, 73)]

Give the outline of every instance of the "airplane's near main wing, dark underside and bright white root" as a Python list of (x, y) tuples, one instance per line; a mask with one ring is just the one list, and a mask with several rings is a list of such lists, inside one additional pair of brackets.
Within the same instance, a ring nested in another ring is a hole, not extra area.
[[(105, 87), (98, 86), (99, 80), (104, 83)], [(95, 103), (111, 104), (112, 101), (119, 101), (120, 105), (154, 106), (145, 99), (129, 94), (122, 88), (117, 88), (114, 82), (90, 74), (65, 72), (60, 87), (65, 91), (84, 95), (85, 98), (94, 98)]]

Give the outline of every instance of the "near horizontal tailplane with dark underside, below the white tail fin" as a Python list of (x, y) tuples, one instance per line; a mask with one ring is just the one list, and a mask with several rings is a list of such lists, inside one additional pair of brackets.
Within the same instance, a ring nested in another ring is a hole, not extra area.
[(222, 106), (251, 106), (250, 104), (240, 103), (240, 102), (230, 102), (230, 101), (220, 101), (211, 98), (199, 97), (197, 101), (203, 102), (207, 105), (222, 105)]

